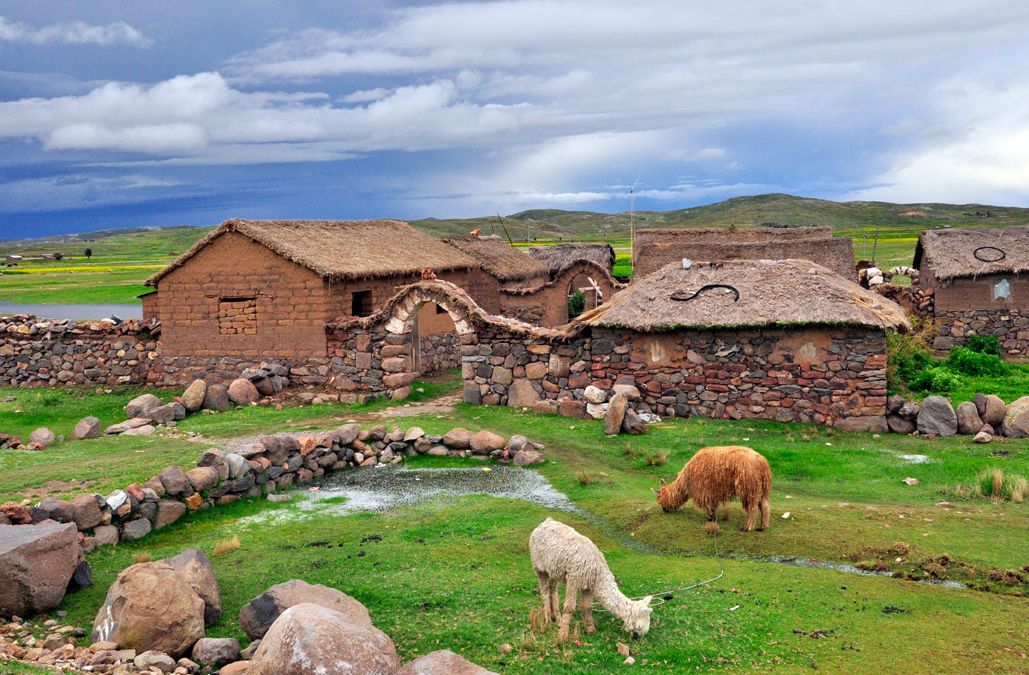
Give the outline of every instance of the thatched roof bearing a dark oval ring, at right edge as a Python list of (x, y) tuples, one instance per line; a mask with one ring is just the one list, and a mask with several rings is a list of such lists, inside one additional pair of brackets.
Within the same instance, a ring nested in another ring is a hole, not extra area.
[(1027, 272), (1029, 225), (924, 232), (915, 247), (914, 267), (925, 268), (939, 281)]

